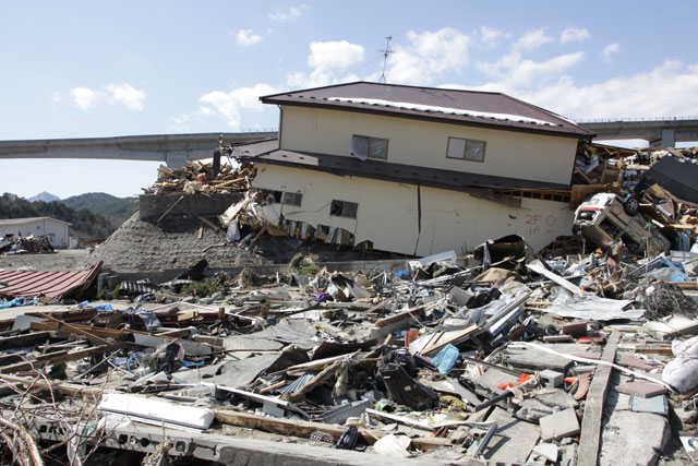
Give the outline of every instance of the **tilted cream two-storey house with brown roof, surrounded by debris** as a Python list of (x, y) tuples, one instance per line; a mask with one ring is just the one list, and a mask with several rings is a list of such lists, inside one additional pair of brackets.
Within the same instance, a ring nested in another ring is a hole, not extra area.
[(294, 236), (429, 255), (570, 235), (570, 181), (591, 132), (500, 93), (357, 82), (261, 97), (278, 147), (256, 155), (265, 216)]

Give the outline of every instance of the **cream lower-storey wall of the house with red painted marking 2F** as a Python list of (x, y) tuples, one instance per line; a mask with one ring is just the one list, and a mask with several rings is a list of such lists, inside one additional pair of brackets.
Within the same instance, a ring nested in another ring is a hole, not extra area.
[[(256, 163), (253, 187), (302, 193), (301, 206), (275, 205), (289, 220), (344, 228), (356, 243), (373, 242), (378, 250), (430, 255), (472, 250), (486, 239), (519, 234), (538, 249), (561, 235), (570, 235), (569, 204), (522, 199), (521, 207), (476, 199), (467, 193), (422, 187), (421, 231), (414, 184), (341, 177), (299, 168)], [(333, 200), (359, 204), (357, 218), (329, 214)]]

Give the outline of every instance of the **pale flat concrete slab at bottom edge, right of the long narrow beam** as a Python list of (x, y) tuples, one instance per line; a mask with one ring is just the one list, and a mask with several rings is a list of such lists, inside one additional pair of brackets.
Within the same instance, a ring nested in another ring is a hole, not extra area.
[(654, 465), (670, 435), (663, 416), (614, 410), (602, 431), (599, 464)]

